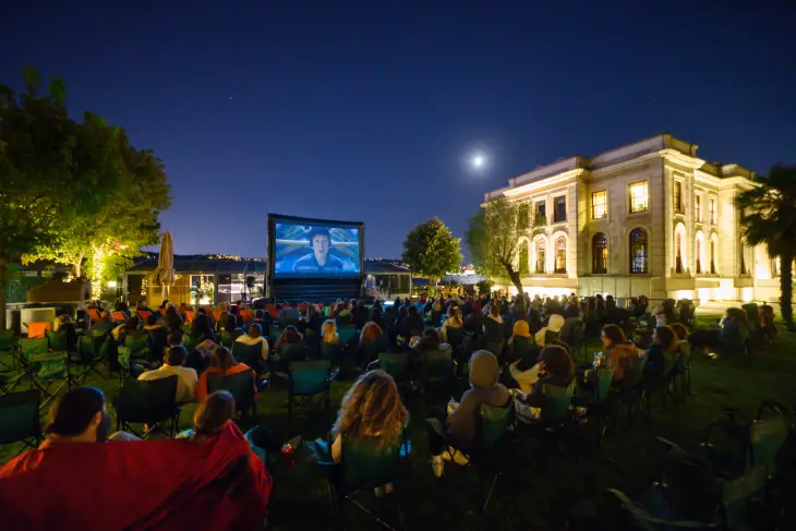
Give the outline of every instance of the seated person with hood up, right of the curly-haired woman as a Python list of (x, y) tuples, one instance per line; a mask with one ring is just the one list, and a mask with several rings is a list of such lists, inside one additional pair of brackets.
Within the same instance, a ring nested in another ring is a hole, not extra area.
[(478, 448), (481, 433), (481, 405), (504, 408), (508, 406), (511, 394), (503, 384), (497, 383), (498, 364), (495, 354), (487, 350), (479, 350), (470, 358), (470, 389), (461, 396), (461, 401), (448, 405), (449, 413), (430, 411), (433, 418), (429, 423), (429, 447), (434, 475), (443, 474), (443, 459), (451, 457), (465, 463), (467, 458), (458, 451), (455, 456), (443, 450), (445, 443), (469, 452)]

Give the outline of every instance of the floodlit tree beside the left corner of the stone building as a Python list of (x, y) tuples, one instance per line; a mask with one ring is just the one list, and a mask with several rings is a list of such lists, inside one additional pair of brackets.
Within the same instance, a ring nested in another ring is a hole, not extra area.
[(522, 293), (519, 262), (520, 238), (533, 238), (542, 224), (541, 218), (531, 222), (527, 204), (498, 197), (481, 206), (468, 220), (465, 240), (470, 246), (475, 270), (493, 278), (506, 278)]

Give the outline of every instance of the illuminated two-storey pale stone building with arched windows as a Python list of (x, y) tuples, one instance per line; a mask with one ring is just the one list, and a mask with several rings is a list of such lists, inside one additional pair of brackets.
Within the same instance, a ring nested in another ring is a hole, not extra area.
[(546, 219), (540, 234), (520, 241), (530, 293), (775, 301), (777, 264), (762, 246), (744, 244), (734, 205), (752, 176), (702, 160), (696, 144), (664, 133), (558, 159), (485, 201), (503, 195), (522, 203), (529, 222), (534, 213)]

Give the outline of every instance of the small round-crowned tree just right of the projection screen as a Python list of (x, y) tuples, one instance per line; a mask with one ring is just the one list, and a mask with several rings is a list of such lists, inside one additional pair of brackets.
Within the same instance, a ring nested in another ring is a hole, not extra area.
[(433, 218), (415, 226), (403, 241), (403, 263), (434, 282), (450, 271), (459, 269), (461, 240), (454, 238), (445, 224)]

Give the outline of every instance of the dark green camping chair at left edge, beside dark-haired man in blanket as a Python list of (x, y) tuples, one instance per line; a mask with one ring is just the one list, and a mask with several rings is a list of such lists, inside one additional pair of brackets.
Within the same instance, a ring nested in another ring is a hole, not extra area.
[(36, 389), (0, 397), (0, 445), (22, 443), (16, 456), (41, 442), (40, 400), (41, 394)]

